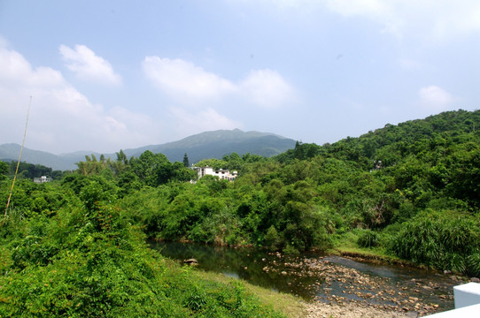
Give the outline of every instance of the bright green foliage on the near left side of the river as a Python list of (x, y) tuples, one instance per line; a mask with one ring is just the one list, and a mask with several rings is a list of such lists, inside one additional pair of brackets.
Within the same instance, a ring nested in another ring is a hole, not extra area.
[(55, 214), (0, 219), (1, 316), (282, 316), (244, 284), (205, 280), (147, 248), (111, 181), (74, 181), (56, 184), (78, 200)]

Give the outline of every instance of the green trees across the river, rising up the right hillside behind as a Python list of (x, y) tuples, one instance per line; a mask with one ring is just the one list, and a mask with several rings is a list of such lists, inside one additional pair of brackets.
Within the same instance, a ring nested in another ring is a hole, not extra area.
[[(125, 207), (137, 211), (132, 219), (148, 235), (162, 239), (301, 251), (327, 249), (341, 241), (333, 235), (363, 229), (359, 246), (385, 248), (389, 238), (398, 234), (390, 232), (392, 226), (408, 223), (425, 210), (445, 215), (446, 221), (453, 216), (445, 210), (476, 213), (480, 140), (472, 127), (479, 121), (478, 111), (459, 110), (385, 125), (359, 138), (323, 146), (298, 142), (294, 149), (270, 159), (230, 154), (197, 163), (238, 170), (234, 183), (206, 176), (195, 185), (174, 186), (174, 180), (187, 178), (166, 173), (170, 177), (163, 183), (158, 170), (143, 173), (135, 168), (130, 171), (140, 186), (166, 186), (160, 195), (164, 199), (151, 195), (140, 199), (148, 191), (137, 192), (138, 186), (131, 189), (124, 182), (119, 182), (120, 193), (129, 189), (122, 196)], [(164, 163), (165, 158), (147, 152), (130, 162), (135, 161), (148, 170), (151, 163)], [(467, 254), (459, 255), (468, 263)], [(446, 259), (430, 265), (452, 267)]]

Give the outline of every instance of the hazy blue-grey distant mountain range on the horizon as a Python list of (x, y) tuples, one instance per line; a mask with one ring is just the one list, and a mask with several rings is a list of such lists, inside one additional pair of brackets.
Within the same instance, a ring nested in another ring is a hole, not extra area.
[[(252, 155), (273, 156), (295, 147), (295, 140), (287, 139), (274, 133), (243, 132), (239, 129), (219, 130), (198, 133), (182, 140), (168, 142), (161, 145), (151, 145), (142, 148), (124, 149), (128, 157), (138, 157), (146, 150), (166, 155), (171, 162), (182, 162), (183, 155), (189, 155), (190, 163), (197, 163), (202, 159), (217, 158), (233, 152), (238, 155), (251, 153)], [(120, 149), (119, 149), (120, 151)], [(17, 161), (20, 146), (17, 144), (0, 145), (0, 160)], [(89, 151), (77, 151), (65, 155), (53, 155), (44, 151), (23, 149), (22, 162), (42, 164), (53, 170), (74, 170), (75, 163), (85, 160)], [(100, 156), (98, 153), (93, 153)], [(116, 158), (115, 154), (105, 154), (105, 157)]]

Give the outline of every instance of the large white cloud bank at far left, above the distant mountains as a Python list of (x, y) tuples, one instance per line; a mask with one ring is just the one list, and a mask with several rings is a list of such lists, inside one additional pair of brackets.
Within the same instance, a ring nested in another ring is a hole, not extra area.
[(18, 52), (0, 47), (0, 144), (21, 143), (33, 96), (26, 147), (54, 153), (102, 152), (155, 140), (155, 123), (121, 108), (92, 103), (49, 67), (33, 68)]

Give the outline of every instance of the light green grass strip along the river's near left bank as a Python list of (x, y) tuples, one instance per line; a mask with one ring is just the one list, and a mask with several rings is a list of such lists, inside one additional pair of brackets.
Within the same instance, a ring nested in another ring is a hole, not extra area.
[[(228, 277), (223, 274), (205, 272), (197, 270), (197, 274), (205, 279), (213, 280), (221, 283), (228, 283), (236, 278)], [(300, 318), (306, 316), (305, 302), (293, 295), (274, 292), (267, 288), (259, 287), (253, 284), (242, 281), (245, 286), (245, 291), (255, 295), (259, 300), (269, 307), (280, 311), (290, 318)]]

